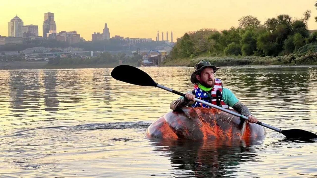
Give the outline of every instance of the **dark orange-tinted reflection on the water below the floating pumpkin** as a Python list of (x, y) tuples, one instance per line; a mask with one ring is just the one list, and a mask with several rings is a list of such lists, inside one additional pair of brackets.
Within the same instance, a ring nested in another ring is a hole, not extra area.
[[(232, 169), (246, 162), (257, 162), (260, 157), (254, 145), (264, 137), (249, 142), (244, 140), (151, 140), (160, 155), (169, 156), (175, 175), (190, 177), (223, 177), (234, 174)], [(179, 170), (179, 171), (178, 171)]]

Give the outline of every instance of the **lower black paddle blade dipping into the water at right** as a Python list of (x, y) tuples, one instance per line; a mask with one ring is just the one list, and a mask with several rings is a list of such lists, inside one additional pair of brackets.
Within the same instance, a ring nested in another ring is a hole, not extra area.
[(317, 135), (301, 129), (282, 130), (281, 133), (288, 139), (310, 140), (317, 138)]

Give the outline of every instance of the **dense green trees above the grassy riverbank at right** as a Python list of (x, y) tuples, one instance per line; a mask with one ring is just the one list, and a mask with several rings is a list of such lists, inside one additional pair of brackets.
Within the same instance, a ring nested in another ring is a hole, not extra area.
[[(307, 21), (311, 11), (301, 19), (281, 14), (269, 18), (263, 24), (254, 16), (243, 16), (238, 27), (218, 31), (201, 29), (185, 33), (178, 38), (169, 58), (191, 58), (195, 56), (282, 56), (309, 48), (317, 42), (317, 32), (310, 33)], [(316, 18), (315, 18), (316, 19)], [(305, 45), (310, 45), (309, 47)]]

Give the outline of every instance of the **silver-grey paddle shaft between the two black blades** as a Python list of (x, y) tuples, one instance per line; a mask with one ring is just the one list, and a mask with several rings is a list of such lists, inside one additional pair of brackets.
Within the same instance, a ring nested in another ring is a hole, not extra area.
[[(164, 89), (164, 90), (166, 90), (166, 91), (169, 91), (169, 92), (172, 92), (172, 93), (175, 93), (175, 94), (178, 94), (178, 95), (180, 95), (180, 96), (185, 97), (185, 94), (184, 94), (184, 93), (175, 91), (175, 90), (173, 90), (173, 89), (171, 89), (171, 88), (167, 88), (167, 87), (162, 86), (162, 85), (159, 85), (159, 84), (157, 84), (157, 87), (162, 88), (162, 89)], [(241, 114), (239, 114), (239, 113), (236, 113), (236, 112), (233, 112), (233, 111), (224, 109), (224, 108), (219, 107), (219, 106), (217, 106), (217, 105), (213, 105), (213, 104), (208, 103), (208, 102), (206, 102), (206, 101), (203, 101), (203, 100), (201, 100), (201, 99), (195, 98), (195, 100), (198, 101), (199, 103), (203, 103), (203, 104), (205, 104), (205, 105), (208, 105), (208, 106), (210, 106), (210, 107), (216, 108), (216, 109), (221, 110), (221, 111), (223, 111), (223, 112), (229, 113), (229, 114), (234, 115), (234, 116), (236, 116), (236, 117), (243, 118), (243, 119), (245, 119), (245, 120), (248, 120), (248, 119), (249, 119), (248, 117), (243, 116), (243, 115), (241, 115)], [(276, 127), (270, 126), (270, 125), (265, 124), (265, 123), (262, 123), (262, 122), (260, 122), (260, 121), (258, 121), (256, 124), (262, 125), (263, 127), (266, 127), (266, 128), (272, 129), (272, 130), (275, 130), (275, 131), (277, 131), (277, 132), (281, 132), (281, 131), (282, 131), (282, 129), (278, 129), (278, 128), (276, 128)]]

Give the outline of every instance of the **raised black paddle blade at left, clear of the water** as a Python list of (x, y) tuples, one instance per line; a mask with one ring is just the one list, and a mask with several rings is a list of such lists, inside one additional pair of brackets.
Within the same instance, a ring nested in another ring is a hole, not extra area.
[(114, 67), (111, 72), (114, 79), (140, 86), (157, 86), (157, 83), (144, 71), (128, 65)]

